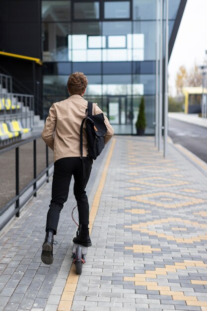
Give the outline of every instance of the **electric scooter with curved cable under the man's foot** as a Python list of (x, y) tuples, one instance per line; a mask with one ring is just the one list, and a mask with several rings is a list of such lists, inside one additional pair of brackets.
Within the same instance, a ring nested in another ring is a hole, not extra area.
[[(76, 231), (76, 236), (79, 235), (79, 225), (76, 223), (76, 221), (73, 218), (73, 211), (77, 207), (77, 205), (73, 208), (71, 216), (73, 222), (77, 225), (78, 229)], [(79, 245), (76, 243), (73, 243), (73, 248), (72, 248), (72, 262), (75, 264), (75, 271), (76, 274), (81, 274), (82, 273), (82, 266), (85, 263), (85, 255), (87, 254), (87, 247), (83, 245)]]

